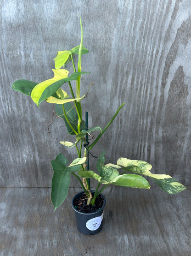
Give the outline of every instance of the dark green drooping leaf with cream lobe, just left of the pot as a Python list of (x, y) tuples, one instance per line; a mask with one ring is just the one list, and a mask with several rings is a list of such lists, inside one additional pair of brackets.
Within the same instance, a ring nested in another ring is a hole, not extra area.
[(75, 159), (67, 167), (67, 158), (59, 154), (55, 160), (51, 161), (54, 175), (52, 178), (51, 202), (54, 205), (54, 210), (58, 208), (67, 197), (68, 188), (70, 185), (70, 174), (78, 172), (81, 164), (86, 161), (86, 157)]

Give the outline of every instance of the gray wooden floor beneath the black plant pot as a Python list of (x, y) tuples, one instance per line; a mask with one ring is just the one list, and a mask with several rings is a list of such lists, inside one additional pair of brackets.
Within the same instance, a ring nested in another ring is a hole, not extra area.
[(191, 186), (168, 195), (111, 187), (104, 226), (86, 236), (75, 226), (70, 188), (53, 212), (50, 188), (0, 189), (0, 256), (191, 256)]

